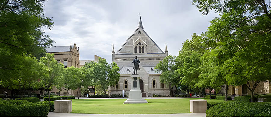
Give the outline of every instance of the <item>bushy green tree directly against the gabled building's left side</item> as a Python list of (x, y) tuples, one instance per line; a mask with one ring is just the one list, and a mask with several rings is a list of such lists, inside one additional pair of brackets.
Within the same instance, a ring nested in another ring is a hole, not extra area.
[(95, 87), (100, 87), (104, 94), (107, 94), (109, 86), (116, 85), (116, 82), (120, 80), (118, 73), (120, 68), (115, 62), (108, 64), (105, 59), (99, 58), (98, 63), (89, 62), (85, 64), (85, 67), (88, 67), (89, 72), (92, 73), (87, 77), (91, 77), (90, 79), (96, 85)]

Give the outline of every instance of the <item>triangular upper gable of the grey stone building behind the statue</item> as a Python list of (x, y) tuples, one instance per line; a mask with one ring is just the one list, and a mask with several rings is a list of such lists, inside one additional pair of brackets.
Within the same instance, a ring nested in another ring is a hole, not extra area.
[[(121, 46), (116, 55), (118, 54), (133, 54), (135, 53), (135, 44), (142, 44), (145, 48), (145, 53), (161, 53), (164, 52), (160, 49), (159, 46), (149, 37), (149, 35), (141, 28), (142, 23), (139, 24), (139, 27), (136, 31), (126, 40), (126, 42)], [(138, 45), (137, 47), (139, 47)], [(140, 47), (142, 47), (140, 46)]]

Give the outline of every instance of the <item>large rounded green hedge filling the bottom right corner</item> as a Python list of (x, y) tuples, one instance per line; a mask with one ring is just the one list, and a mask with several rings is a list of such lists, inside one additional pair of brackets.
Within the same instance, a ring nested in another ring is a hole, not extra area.
[(206, 116), (271, 116), (271, 103), (227, 101), (209, 108)]

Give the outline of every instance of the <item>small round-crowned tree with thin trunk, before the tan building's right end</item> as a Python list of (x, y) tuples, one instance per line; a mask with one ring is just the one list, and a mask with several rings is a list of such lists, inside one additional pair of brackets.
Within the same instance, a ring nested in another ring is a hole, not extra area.
[(82, 80), (84, 77), (86, 76), (82, 73), (80, 68), (73, 66), (67, 67), (64, 69), (63, 77), (61, 77), (58, 85), (66, 90), (67, 94), (69, 94), (70, 89), (75, 90), (82, 86)]

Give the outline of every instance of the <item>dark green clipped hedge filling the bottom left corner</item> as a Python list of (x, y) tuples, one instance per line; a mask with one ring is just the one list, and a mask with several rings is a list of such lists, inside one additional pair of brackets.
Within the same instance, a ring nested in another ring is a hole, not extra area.
[(0, 116), (46, 116), (49, 105), (26, 100), (0, 100)]

